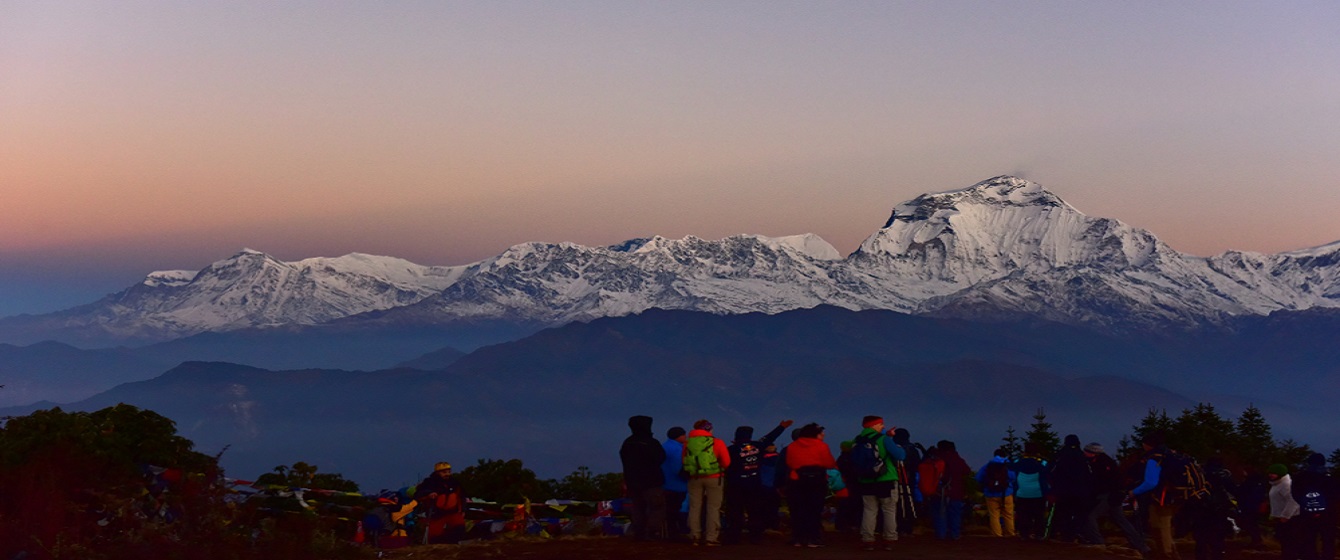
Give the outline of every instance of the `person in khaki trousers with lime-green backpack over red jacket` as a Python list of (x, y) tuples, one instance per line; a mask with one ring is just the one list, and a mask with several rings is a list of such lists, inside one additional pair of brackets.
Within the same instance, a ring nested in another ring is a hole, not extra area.
[(726, 442), (712, 435), (712, 422), (693, 423), (683, 445), (683, 470), (689, 473), (689, 537), (694, 545), (721, 544), (721, 500), (730, 468)]

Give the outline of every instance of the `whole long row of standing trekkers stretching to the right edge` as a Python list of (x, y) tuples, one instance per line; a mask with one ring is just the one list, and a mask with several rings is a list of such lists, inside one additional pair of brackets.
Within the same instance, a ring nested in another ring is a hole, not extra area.
[[(1235, 481), (1222, 462), (1203, 465), (1168, 449), (1162, 434), (1142, 441), (1143, 454), (1119, 465), (1100, 443), (1067, 435), (1055, 453), (1025, 443), (1021, 457), (997, 449), (976, 472), (955, 445), (925, 447), (906, 429), (867, 415), (860, 431), (833, 456), (825, 430), (783, 421), (760, 438), (740, 426), (726, 443), (706, 419), (675, 426), (658, 441), (650, 417), (628, 419), (620, 449), (631, 498), (632, 535), (714, 547), (758, 543), (777, 529), (785, 498), (791, 544), (823, 547), (823, 513), (835, 500), (839, 529), (859, 531), (866, 549), (892, 548), (929, 517), (937, 539), (962, 535), (967, 481), (976, 478), (993, 536), (1104, 544), (1100, 521), (1116, 525), (1142, 557), (1177, 559), (1174, 537), (1193, 535), (1198, 560), (1221, 559), (1234, 529), (1261, 544), (1262, 514), (1276, 527), (1285, 560), (1335, 559), (1340, 484), (1313, 454), (1297, 472), (1272, 465), (1261, 477)], [(685, 500), (687, 508), (685, 513)], [(1135, 516), (1126, 513), (1132, 504)], [(722, 513), (724, 512), (724, 513)], [(722, 527), (722, 514), (725, 525)], [(1155, 548), (1146, 544), (1152, 533)]]

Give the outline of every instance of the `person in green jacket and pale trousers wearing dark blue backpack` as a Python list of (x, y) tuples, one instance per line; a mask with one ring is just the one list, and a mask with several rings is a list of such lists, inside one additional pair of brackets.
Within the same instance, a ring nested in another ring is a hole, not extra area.
[[(890, 430), (892, 431), (892, 430)], [(898, 466), (907, 457), (903, 447), (884, 433), (884, 419), (867, 415), (860, 421), (860, 433), (852, 439), (851, 470), (860, 494), (860, 543), (867, 551), (875, 549), (875, 522), (884, 516), (880, 537), (886, 551), (898, 540)]]

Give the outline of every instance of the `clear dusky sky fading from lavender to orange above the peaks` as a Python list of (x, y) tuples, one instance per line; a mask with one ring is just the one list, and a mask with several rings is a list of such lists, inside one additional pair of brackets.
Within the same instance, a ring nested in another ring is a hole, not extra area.
[(243, 248), (816, 233), (1001, 174), (1340, 240), (1340, 3), (0, 3), (0, 316)]

